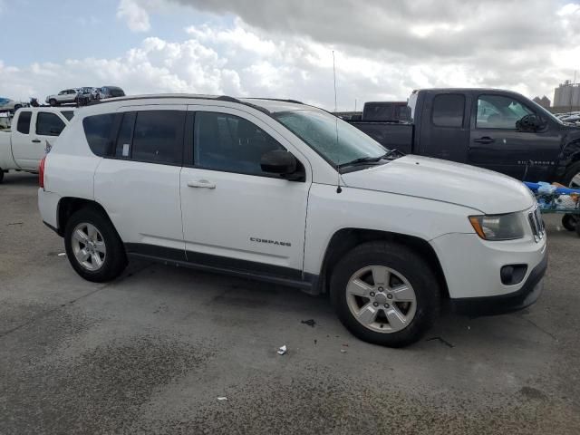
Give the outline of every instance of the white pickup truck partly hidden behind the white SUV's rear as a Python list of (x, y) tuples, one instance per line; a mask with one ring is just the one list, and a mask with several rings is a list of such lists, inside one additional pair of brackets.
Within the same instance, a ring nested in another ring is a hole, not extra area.
[(26, 108), (16, 111), (11, 131), (0, 131), (0, 183), (10, 169), (37, 172), (46, 142), (61, 134), (73, 109)]

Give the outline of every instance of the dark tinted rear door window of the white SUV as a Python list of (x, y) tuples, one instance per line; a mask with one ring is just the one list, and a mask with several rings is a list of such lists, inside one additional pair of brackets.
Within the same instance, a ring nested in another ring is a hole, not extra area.
[(185, 116), (186, 111), (125, 113), (115, 156), (150, 163), (180, 165), (183, 160)]

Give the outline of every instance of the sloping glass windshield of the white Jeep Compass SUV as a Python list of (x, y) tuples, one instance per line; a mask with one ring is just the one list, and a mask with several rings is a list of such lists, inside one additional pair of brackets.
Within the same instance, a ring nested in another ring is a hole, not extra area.
[(278, 111), (273, 116), (333, 166), (379, 159), (387, 152), (370, 136), (325, 111)]

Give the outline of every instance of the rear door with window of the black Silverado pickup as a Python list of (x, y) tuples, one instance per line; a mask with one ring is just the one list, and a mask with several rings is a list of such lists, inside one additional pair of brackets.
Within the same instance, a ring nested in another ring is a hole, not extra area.
[(427, 94), (420, 119), (420, 154), (437, 159), (467, 159), (469, 97), (462, 93)]

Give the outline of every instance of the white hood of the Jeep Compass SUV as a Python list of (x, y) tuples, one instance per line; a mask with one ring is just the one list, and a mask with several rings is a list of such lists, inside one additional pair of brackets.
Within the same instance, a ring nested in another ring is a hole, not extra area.
[(352, 188), (449, 202), (488, 215), (525, 210), (536, 201), (517, 179), (453, 161), (412, 155), (343, 174), (343, 180)]

